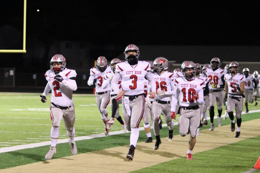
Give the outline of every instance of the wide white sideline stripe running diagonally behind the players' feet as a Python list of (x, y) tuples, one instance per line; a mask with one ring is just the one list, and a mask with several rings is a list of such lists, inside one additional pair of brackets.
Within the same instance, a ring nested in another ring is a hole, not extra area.
[[(252, 110), (249, 113), (255, 113), (255, 112), (260, 112), (260, 110)], [(242, 112), (242, 114), (248, 114), (248, 113)], [(223, 118), (224, 115), (222, 115), (221, 117)], [(214, 116), (214, 119), (217, 119), (217, 118), (218, 118), (218, 116)], [(178, 122), (174, 122), (173, 124), (178, 125)], [(167, 125), (163, 124), (162, 126), (166, 127)], [(151, 129), (152, 129), (152, 127), (151, 127)], [(144, 127), (140, 127), (139, 130), (144, 130)], [(129, 132), (130, 131), (127, 131), (127, 133), (129, 133)], [(118, 135), (118, 134), (123, 134), (123, 133), (124, 133), (123, 130), (112, 131), (112, 132), (109, 132), (109, 135), (112, 136), (112, 135)], [(79, 137), (75, 137), (75, 141), (88, 140), (88, 139), (101, 138), (101, 137), (106, 137), (106, 136), (104, 136), (104, 133), (93, 134), (93, 135), (89, 135), (89, 136), (79, 136)], [(58, 140), (57, 144), (62, 144), (62, 143), (67, 143), (67, 142), (68, 142), (68, 138)], [(3, 148), (0, 148), (0, 153), (6, 153), (6, 152), (16, 151), (16, 150), (23, 150), (23, 149), (28, 149), (28, 148), (36, 148), (36, 147), (40, 147), (40, 146), (47, 146), (50, 144), (51, 144), (51, 141), (47, 141), (47, 142), (38, 142), (38, 143), (32, 143), (32, 144), (3, 147)]]

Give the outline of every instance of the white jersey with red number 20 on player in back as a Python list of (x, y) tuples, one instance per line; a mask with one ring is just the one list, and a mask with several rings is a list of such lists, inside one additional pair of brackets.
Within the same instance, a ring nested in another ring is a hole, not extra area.
[(221, 77), (226, 74), (226, 70), (222, 68), (218, 68), (215, 71), (213, 71), (211, 68), (207, 68), (205, 70), (205, 74), (209, 78), (209, 89), (212, 90), (222, 90), (220, 88), (212, 88), (211, 84), (216, 84), (216, 85), (222, 85), (222, 80)]

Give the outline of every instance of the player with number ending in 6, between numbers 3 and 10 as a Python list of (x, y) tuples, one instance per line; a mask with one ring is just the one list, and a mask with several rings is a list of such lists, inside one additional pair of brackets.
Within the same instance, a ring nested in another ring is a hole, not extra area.
[(170, 100), (171, 96), (168, 91), (174, 90), (174, 73), (166, 71), (168, 69), (168, 60), (164, 57), (158, 57), (153, 61), (154, 71), (156, 74), (153, 76), (156, 82), (156, 96), (153, 102), (152, 116), (153, 116), (153, 131), (155, 134), (156, 142), (153, 146), (154, 150), (159, 148), (161, 144), (159, 116), (161, 112), (164, 114), (164, 119), (169, 128), (168, 140), (173, 140), (173, 122), (170, 116)]

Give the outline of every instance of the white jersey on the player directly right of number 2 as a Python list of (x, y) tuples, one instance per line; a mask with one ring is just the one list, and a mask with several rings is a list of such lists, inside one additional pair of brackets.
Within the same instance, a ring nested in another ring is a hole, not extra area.
[(90, 69), (90, 75), (94, 76), (94, 78), (97, 78), (95, 83), (97, 93), (111, 90), (110, 86), (107, 86), (105, 89), (102, 89), (101, 87), (104, 80), (104, 74), (107, 72), (111, 72), (110, 65), (107, 65), (107, 69), (104, 72), (99, 72), (97, 67), (92, 67), (92, 69)]

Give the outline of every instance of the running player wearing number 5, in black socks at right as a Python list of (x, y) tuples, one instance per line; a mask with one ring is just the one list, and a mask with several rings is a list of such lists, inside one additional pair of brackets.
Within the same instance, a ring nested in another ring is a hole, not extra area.
[(243, 110), (243, 93), (245, 88), (245, 76), (238, 73), (239, 63), (232, 61), (229, 64), (229, 73), (225, 74), (225, 101), (231, 119), (231, 131), (235, 131), (235, 119), (233, 110), (236, 110), (237, 132), (236, 138), (240, 138), (241, 112)]

